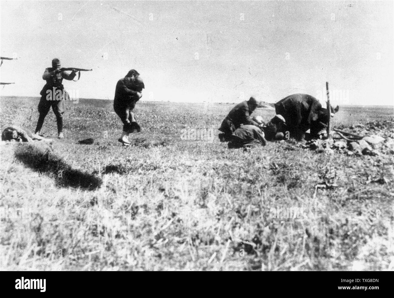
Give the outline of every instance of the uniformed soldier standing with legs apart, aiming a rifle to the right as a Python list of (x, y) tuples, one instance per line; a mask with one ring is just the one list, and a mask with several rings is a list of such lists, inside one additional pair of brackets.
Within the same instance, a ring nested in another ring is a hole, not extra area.
[[(43, 127), (45, 116), (48, 114), (50, 107), (56, 115), (56, 122), (58, 124), (58, 138), (63, 139), (63, 113), (65, 110), (64, 100), (69, 99), (69, 95), (64, 90), (63, 79), (71, 81), (74, 79), (76, 72), (72, 70), (71, 73), (60, 70), (60, 60), (55, 58), (52, 60), (52, 67), (45, 69), (43, 79), (46, 81), (45, 86), (40, 92), (41, 99), (38, 104), (38, 112), (40, 116), (35, 128), (35, 134), (40, 134)], [(60, 90), (60, 93), (57, 92)]]

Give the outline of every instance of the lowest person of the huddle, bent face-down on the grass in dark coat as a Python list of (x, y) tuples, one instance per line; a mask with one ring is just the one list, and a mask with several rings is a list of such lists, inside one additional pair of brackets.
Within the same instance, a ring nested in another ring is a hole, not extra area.
[(265, 146), (264, 132), (255, 125), (242, 125), (230, 136), (229, 148)]

